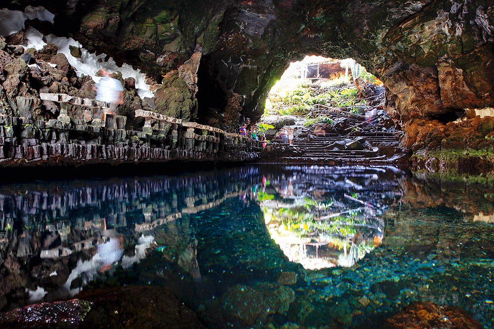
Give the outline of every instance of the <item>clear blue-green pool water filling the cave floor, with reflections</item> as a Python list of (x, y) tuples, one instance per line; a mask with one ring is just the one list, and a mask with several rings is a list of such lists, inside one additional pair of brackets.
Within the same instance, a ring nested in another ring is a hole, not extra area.
[(210, 328), (372, 328), (414, 300), (493, 328), (493, 210), (393, 167), (5, 184), (0, 306), (159, 285)]

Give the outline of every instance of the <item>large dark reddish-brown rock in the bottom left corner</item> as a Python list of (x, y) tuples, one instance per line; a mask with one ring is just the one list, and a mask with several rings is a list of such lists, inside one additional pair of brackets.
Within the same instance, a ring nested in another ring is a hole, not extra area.
[(79, 299), (42, 303), (0, 314), (0, 327), (205, 329), (197, 315), (159, 287), (83, 292)]

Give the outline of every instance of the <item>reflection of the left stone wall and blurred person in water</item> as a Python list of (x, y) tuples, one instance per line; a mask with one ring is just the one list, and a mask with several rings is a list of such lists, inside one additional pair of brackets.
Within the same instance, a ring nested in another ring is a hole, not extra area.
[[(0, 309), (7, 300), (70, 297), (104, 272), (113, 275), (117, 263), (131, 268), (157, 247), (157, 227), (245, 195), (258, 172), (0, 186), (0, 263), (11, 268), (0, 273)], [(187, 243), (192, 256), (177, 261), (200, 280), (193, 234)]]

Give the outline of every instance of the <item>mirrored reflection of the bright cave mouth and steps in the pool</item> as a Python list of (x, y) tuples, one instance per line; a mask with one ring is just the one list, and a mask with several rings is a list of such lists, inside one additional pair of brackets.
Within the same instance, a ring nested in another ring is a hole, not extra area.
[[(378, 246), (382, 214), (401, 193), (395, 168), (287, 167), (259, 193), (271, 237), (307, 269), (350, 267)], [(389, 181), (388, 181), (389, 180)]]

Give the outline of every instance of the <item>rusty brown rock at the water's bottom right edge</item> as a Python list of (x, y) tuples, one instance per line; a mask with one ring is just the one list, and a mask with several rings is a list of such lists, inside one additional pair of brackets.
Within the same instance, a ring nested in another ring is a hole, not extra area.
[(383, 329), (482, 329), (465, 311), (430, 302), (413, 302), (384, 322)]

